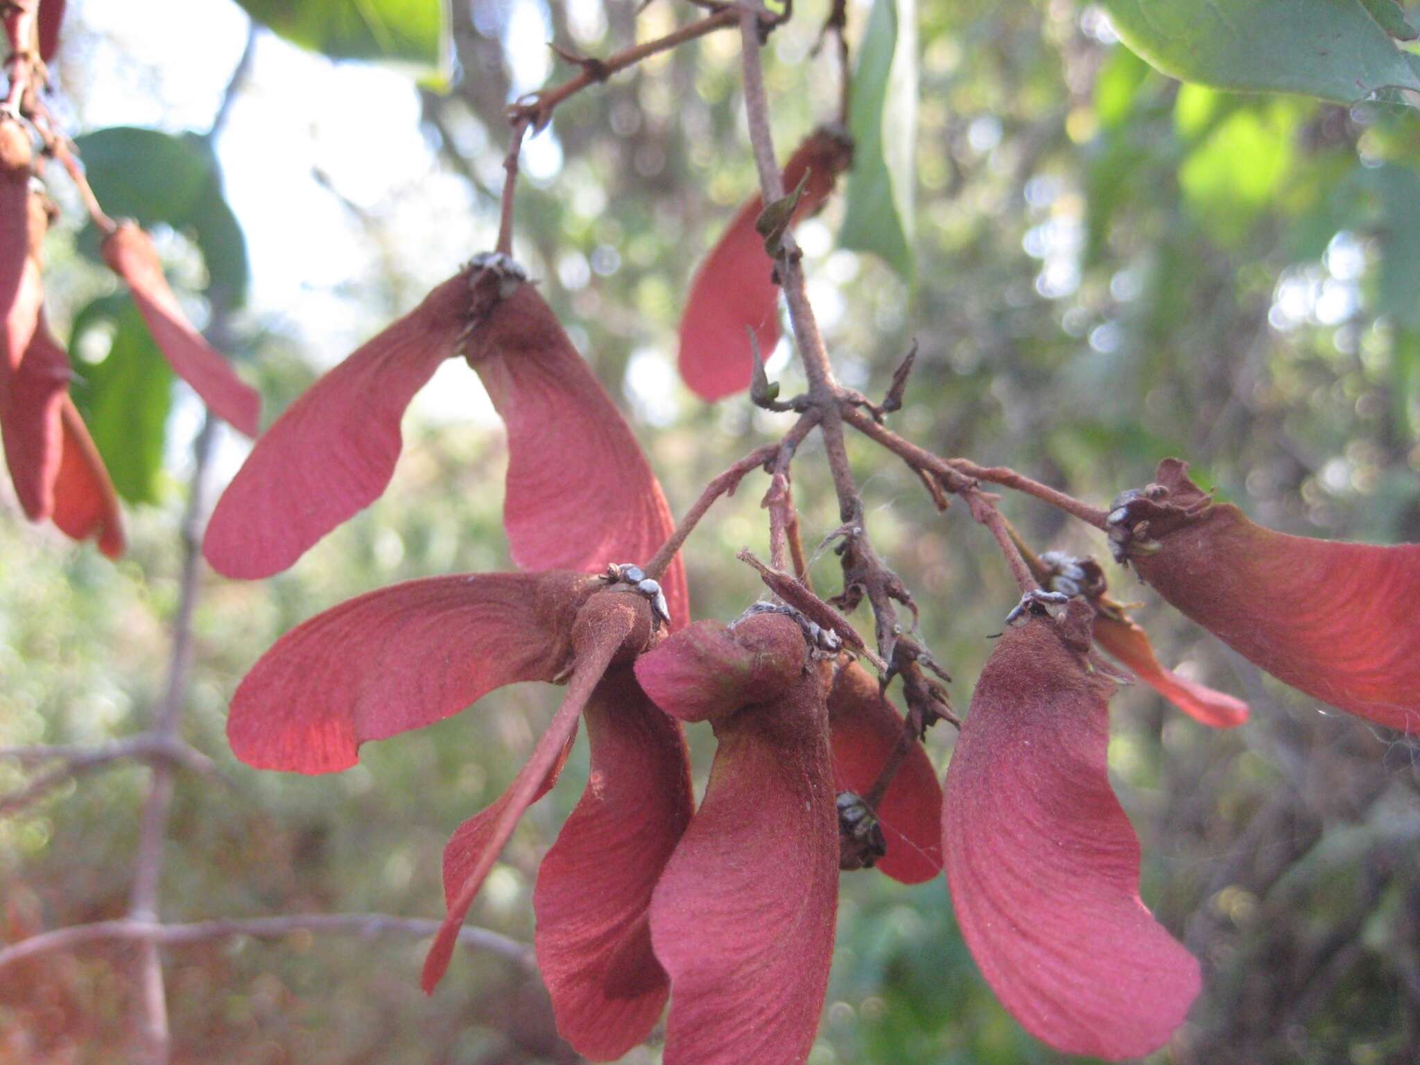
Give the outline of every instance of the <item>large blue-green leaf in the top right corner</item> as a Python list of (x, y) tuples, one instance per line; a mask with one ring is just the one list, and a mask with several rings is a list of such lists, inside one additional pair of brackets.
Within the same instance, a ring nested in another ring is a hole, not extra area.
[[(1387, 0), (1389, 1), (1389, 0)], [(1125, 44), (1164, 74), (1216, 88), (1350, 104), (1420, 91), (1420, 65), (1360, 0), (1103, 0)]]

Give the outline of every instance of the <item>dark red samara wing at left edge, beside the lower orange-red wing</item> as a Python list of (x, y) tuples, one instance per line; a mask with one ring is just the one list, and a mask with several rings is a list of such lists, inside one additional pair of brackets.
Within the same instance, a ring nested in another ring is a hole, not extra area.
[(0, 386), (0, 435), (20, 506), (31, 521), (54, 513), (54, 480), (64, 453), (61, 409), (68, 398), (70, 359), (43, 312), (30, 348)]

